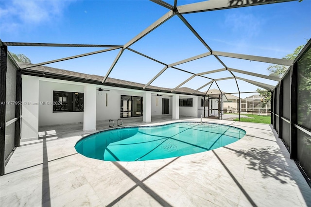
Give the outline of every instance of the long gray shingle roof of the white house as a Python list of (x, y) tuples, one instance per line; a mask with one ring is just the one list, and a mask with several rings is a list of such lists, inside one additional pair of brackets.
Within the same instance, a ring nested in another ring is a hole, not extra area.
[[(19, 67), (33, 65), (30, 63), (21, 63), (21, 62), (18, 62), (17, 64)], [(86, 73), (74, 72), (74, 71), (64, 70), (64, 69), (56, 69), (56, 68), (51, 68), (51, 67), (47, 67), (47, 66), (35, 66), (35, 67), (27, 68), (27, 69), (22, 69), (22, 71), (24, 74), (26, 71), (28, 71), (28, 72), (39, 72), (41, 74), (40, 76), (42, 76), (42, 77), (45, 77), (46, 75), (55, 75), (58, 77), (58, 79), (62, 79), (63, 77), (72, 77), (72, 78), (80, 79), (81, 82), (83, 82), (83, 80), (85, 80), (85, 81), (88, 80), (88, 81), (93, 81), (93, 82), (95, 82), (95, 84), (99, 84), (99, 85), (103, 85), (102, 80), (104, 78), (103, 76), (100, 76), (100, 75), (89, 75)], [(141, 89), (141, 90), (143, 90), (143, 86), (145, 86), (144, 84), (140, 84), (140, 83), (135, 83), (135, 82), (131, 82), (131, 81), (124, 81), (124, 80), (108, 77), (106, 82), (104, 83), (104, 85), (109, 85), (109, 84), (123, 86), (125, 88), (127, 86), (131, 86), (131, 87), (134, 86), (134, 87), (137, 87), (138, 89)], [(148, 86), (147, 90), (171, 92), (172, 88)], [(180, 88), (176, 89), (174, 91), (174, 93), (189, 94), (190, 95), (193, 91), (194, 91), (194, 89), (191, 89), (189, 87), (180, 87)], [(204, 96), (205, 93), (197, 91), (197, 92), (193, 93), (192, 95)]]

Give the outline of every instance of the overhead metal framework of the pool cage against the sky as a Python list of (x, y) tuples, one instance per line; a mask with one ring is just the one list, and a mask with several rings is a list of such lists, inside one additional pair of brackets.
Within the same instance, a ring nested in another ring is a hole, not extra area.
[[(154, 78), (152, 78), (145, 86), (143, 86), (142, 90), (144, 90), (148, 86), (150, 86), (150, 84), (168, 68), (173, 68), (173, 69), (181, 70), (183, 72), (187, 72), (187, 73), (191, 74), (190, 78), (188, 78), (187, 80), (183, 81), (178, 86), (172, 88), (171, 92), (174, 92), (176, 89), (178, 89), (179, 87), (183, 86), (185, 83), (190, 81), (195, 76), (201, 76), (201, 77), (207, 78), (207, 84), (205, 84), (204, 86), (201, 86), (201, 87), (195, 89), (195, 92), (199, 91), (200, 89), (202, 89), (205, 86), (208, 86), (210, 83), (215, 82), (216, 85), (217, 85), (217, 81), (226, 80), (226, 79), (235, 79), (235, 82), (236, 82), (236, 85), (238, 87), (239, 92), (240, 92), (240, 89), (239, 89), (239, 86), (238, 86), (237, 79), (246, 81), (246, 82), (248, 82), (248, 83), (250, 83), (252, 85), (255, 85), (255, 86), (259, 86), (259, 87), (264, 88), (264, 89), (266, 89), (268, 91), (274, 90), (275, 86), (271, 86), (271, 85), (267, 85), (267, 84), (264, 84), (264, 83), (256, 82), (254, 80), (238, 77), (238, 76), (236, 76), (235, 72), (247, 74), (247, 75), (254, 76), (254, 77), (260, 77), (260, 78), (265, 78), (265, 79), (269, 79), (269, 80), (280, 81), (280, 79), (276, 78), (276, 77), (261, 75), (261, 74), (258, 74), (258, 73), (253, 73), (253, 72), (245, 71), (245, 70), (241, 70), (241, 69), (232, 69), (232, 68), (228, 67), (221, 60), (221, 58), (220, 58), (221, 56), (230, 57), (230, 58), (244, 59), (244, 60), (251, 60), (251, 61), (259, 61), (259, 62), (265, 62), (265, 63), (272, 63), (272, 64), (279, 64), (279, 65), (285, 65), (285, 66), (292, 66), (293, 63), (294, 63), (294, 61), (286, 60), (286, 59), (254, 56), (254, 55), (247, 55), (247, 54), (238, 54), (238, 53), (231, 53), (231, 52), (213, 51), (208, 46), (207, 42), (195, 31), (195, 29), (186, 20), (186, 18), (183, 17), (183, 14), (198, 13), (198, 12), (208, 12), (208, 11), (214, 11), (214, 10), (222, 10), (222, 9), (230, 9), (230, 8), (236, 8), (236, 7), (245, 7), (245, 6), (254, 6), (254, 5), (262, 5), (262, 4), (279, 3), (279, 2), (294, 1), (294, 0), (265, 0), (265, 1), (259, 1), (259, 0), (247, 1), (247, 0), (243, 0), (243, 1), (239, 1), (239, 4), (236, 1), (229, 1), (229, 0), (228, 1), (225, 1), (225, 0), (221, 0), (221, 1), (219, 1), (219, 0), (207, 0), (207, 1), (197, 2), (197, 3), (190, 3), (190, 4), (186, 4), (186, 5), (181, 5), (181, 6), (177, 6), (177, 0), (174, 1), (174, 5), (171, 5), (171, 4), (169, 4), (169, 3), (165, 2), (165, 1), (162, 1), (162, 0), (151, 0), (151, 1), (159, 4), (160, 6), (163, 6), (163, 7), (167, 8), (167, 9), (169, 9), (169, 11), (166, 14), (164, 14), (162, 17), (158, 18), (149, 27), (147, 27), (141, 33), (139, 33), (138, 35), (133, 37), (131, 40), (129, 40), (124, 45), (104, 45), (104, 44), (101, 44), (101, 45), (100, 44), (99, 45), (94, 45), (94, 44), (93, 45), (87, 45), (87, 44), (18, 43), (18, 42), (4, 42), (4, 44), (7, 45), (7, 46), (102, 47), (102, 48), (107, 48), (107, 49), (96, 51), (96, 52), (89, 52), (89, 53), (84, 53), (84, 54), (80, 54), (80, 55), (65, 57), (65, 58), (61, 58), (61, 59), (46, 61), (46, 62), (42, 62), (42, 63), (31, 65), (31, 66), (24, 66), (24, 67), (22, 67), (22, 69), (28, 69), (28, 68), (35, 67), (35, 66), (41, 66), (41, 65), (46, 65), (46, 64), (50, 64), (50, 63), (65, 61), (65, 60), (69, 60), (69, 59), (73, 59), (73, 58), (78, 58), (78, 57), (83, 57), (83, 56), (92, 55), (92, 54), (97, 54), (97, 53), (101, 53), (101, 52), (108, 52), (108, 51), (112, 51), (112, 50), (120, 50), (119, 53), (117, 54), (117, 56), (115, 57), (115, 59), (113, 60), (110, 68), (107, 70), (106, 75), (103, 78), (103, 81), (102, 81), (103, 85), (104, 85), (105, 81), (107, 80), (107, 77), (109, 76), (111, 71), (114, 69), (115, 65), (117, 64), (117, 62), (120, 59), (120, 57), (121, 57), (122, 53), (124, 52), (124, 50), (130, 50), (132, 52), (136, 52), (139, 55), (142, 55), (142, 56), (144, 56), (146, 58), (149, 58), (149, 59), (151, 59), (153, 61), (156, 61), (156, 62), (158, 62), (158, 63), (163, 65), (163, 69), (161, 69), (155, 75)], [(159, 60), (156, 60), (153, 57), (147, 56), (147, 55), (145, 55), (145, 54), (143, 54), (141, 52), (135, 51), (135, 50), (130, 48), (131, 45), (135, 44), (141, 38), (143, 38), (144, 36), (146, 36), (149, 33), (151, 33), (153, 30), (155, 30), (157, 27), (161, 26), (163, 23), (165, 23), (167, 20), (169, 20), (170, 18), (172, 18), (175, 15), (177, 15), (180, 18), (180, 20), (189, 28), (189, 30), (193, 33), (193, 35), (196, 38), (198, 38), (198, 40), (200, 40), (200, 42), (207, 48), (207, 52), (206, 53), (202, 53), (200, 55), (189, 57), (189, 58), (186, 58), (184, 60), (180, 60), (180, 61), (175, 62), (175, 63), (163, 63), (163, 62), (161, 62)], [(190, 71), (183, 70), (183, 69), (180, 69), (180, 68), (176, 67), (176, 66), (178, 66), (180, 64), (183, 64), (183, 63), (186, 63), (186, 62), (190, 62), (190, 61), (193, 61), (193, 60), (196, 60), (196, 59), (199, 59), (199, 58), (202, 58), (202, 57), (206, 57), (206, 56), (209, 56), (209, 55), (214, 56), (224, 66), (224, 68), (223, 69), (214, 69), (214, 70), (210, 70), (210, 71), (206, 71), (206, 72), (201, 72), (201, 73), (192, 73)], [(223, 78), (219, 78), (219, 79), (212, 79), (212, 78), (208, 77), (208, 74), (210, 74), (210, 73), (217, 72), (217, 71), (223, 71), (223, 70), (228, 70), (230, 72), (230, 74), (231, 74), (231, 77), (223, 77)], [(219, 89), (221, 90), (221, 88), (219, 88)], [(193, 93), (194, 92), (192, 92), (191, 94), (193, 94)]]

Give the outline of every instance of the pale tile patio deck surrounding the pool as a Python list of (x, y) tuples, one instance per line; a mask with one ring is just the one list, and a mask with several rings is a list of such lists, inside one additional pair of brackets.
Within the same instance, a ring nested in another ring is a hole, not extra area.
[[(152, 124), (173, 122), (159, 120)], [(246, 136), (204, 153), (108, 162), (76, 153), (86, 135), (81, 126), (41, 128), (42, 139), (23, 142), (0, 177), (0, 206), (311, 206), (310, 187), (269, 124), (204, 121), (240, 127)]]

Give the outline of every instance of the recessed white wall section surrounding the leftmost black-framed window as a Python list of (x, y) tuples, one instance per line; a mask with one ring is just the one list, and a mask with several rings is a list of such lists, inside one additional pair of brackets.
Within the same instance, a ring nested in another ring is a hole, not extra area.
[[(84, 86), (49, 81), (39, 81), (39, 102), (53, 102), (53, 90), (84, 93)], [(39, 105), (39, 126), (78, 122), (83, 122), (83, 112), (53, 113), (52, 104)]]

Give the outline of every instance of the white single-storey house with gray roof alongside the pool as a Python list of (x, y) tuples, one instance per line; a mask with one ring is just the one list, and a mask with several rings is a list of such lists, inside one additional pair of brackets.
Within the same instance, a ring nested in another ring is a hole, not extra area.
[[(9, 60), (8, 64), (12, 65)], [(14, 64), (13, 64), (14, 65)], [(31, 66), (18, 63), (15, 67)], [(22, 69), (22, 141), (38, 139), (39, 126), (82, 123), (84, 131), (96, 130), (96, 121), (155, 115), (200, 117), (205, 93), (187, 87), (171, 88), (88, 75), (46, 66)]]

